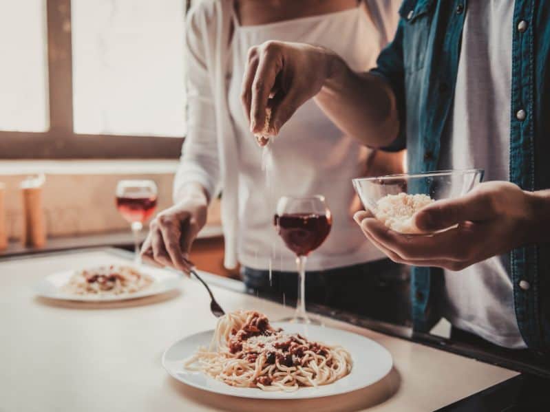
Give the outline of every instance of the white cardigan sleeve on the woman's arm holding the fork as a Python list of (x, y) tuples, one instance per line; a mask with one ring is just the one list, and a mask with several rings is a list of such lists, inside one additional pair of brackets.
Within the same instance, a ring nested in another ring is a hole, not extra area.
[(200, 7), (191, 10), (186, 22), (185, 66), (187, 76), (187, 135), (173, 182), (173, 199), (185, 184), (196, 182), (216, 195), (220, 183), (220, 160), (216, 131), (215, 102), (211, 89), (211, 73), (207, 64), (207, 39), (202, 38), (207, 25)]

